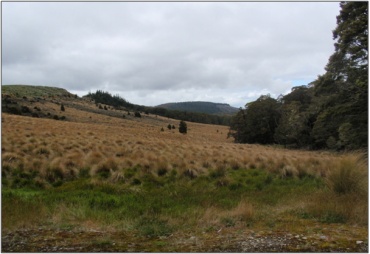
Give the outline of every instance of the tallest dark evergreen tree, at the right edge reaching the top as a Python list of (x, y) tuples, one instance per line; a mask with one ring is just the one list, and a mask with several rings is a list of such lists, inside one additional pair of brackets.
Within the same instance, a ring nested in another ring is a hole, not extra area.
[(312, 137), (317, 148), (357, 149), (368, 141), (368, 2), (340, 6), (335, 52), (314, 82)]

